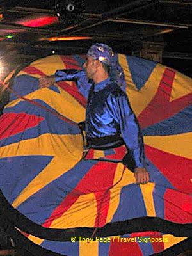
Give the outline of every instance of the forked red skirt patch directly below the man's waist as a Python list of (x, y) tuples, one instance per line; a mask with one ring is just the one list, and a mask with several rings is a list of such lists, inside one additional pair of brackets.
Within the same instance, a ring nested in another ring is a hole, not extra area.
[(62, 216), (76, 202), (80, 195), (88, 193), (95, 193), (97, 200), (97, 217), (95, 220), (97, 227), (105, 225), (110, 202), (108, 189), (113, 186), (115, 171), (115, 163), (99, 162), (93, 165), (89, 172), (84, 175), (83, 179), (80, 180), (79, 184), (77, 184), (76, 188), (54, 209), (51, 216), (45, 221), (44, 227), (50, 227), (52, 221)]

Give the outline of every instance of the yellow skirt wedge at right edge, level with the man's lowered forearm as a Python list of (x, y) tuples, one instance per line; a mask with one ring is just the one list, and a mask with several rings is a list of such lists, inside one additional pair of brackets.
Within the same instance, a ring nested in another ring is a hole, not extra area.
[(192, 132), (168, 136), (145, 136), (144, 143), (164, 152), (192, 159), (190, 150), (192, 148)]

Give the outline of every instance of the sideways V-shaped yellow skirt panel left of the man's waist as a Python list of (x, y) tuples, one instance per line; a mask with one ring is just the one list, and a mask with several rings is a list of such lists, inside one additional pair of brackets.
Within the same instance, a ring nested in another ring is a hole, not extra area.
[(23, 140), (0, 148), (1, 157), (56, 156), (13, 202), (17, 207), (52, 180), (73, 168), (81, 160), (83, 140), (81, 135), (42, 134), (38, 138)]

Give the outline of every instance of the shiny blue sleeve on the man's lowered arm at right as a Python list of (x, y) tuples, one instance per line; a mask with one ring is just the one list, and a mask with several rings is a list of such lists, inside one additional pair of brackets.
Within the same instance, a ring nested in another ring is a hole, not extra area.
[(111, 93), (108, 97), (111, 114), (119, 124), (122, 138), (127, 146), (128, 153), (124, 157), (127, 166), (134, 170), (137, 167), (144, 167), (144, 144), (138, 120), (134, 115), (127, 95), (121, 90)]

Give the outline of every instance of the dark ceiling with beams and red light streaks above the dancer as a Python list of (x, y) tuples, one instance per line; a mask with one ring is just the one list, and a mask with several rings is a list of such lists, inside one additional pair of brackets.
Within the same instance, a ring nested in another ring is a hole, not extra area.
[[(64, 10), (60, 13), (63, 22), (59, 21), (56, 4), (66, 8), (70, 2), (74, 10)], [(191, 0), (85, 0), (83, 17), (81, 1), (70, 2), (0, 0), (1, 56), (13, 67), (53, 50), (56, 54), (85, 53), (93, 42), (127, 54), (143, 42), (156, 42), (164, 45), (165, 64), (168, 60), (173, 65), (192, 62)], [(79, 36), (88, 38), (77, 40)]]

